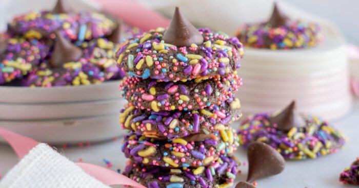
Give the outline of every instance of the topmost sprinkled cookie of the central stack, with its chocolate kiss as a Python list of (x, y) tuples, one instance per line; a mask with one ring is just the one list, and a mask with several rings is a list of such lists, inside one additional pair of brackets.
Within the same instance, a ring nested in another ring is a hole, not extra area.
[(132, 77), (187, 81), (233, 74), (243, 53), (236, 37), (196, 30), (176, 8), (167, 30), (157, 28), (129, 39), (119, 46), (116, 60)]

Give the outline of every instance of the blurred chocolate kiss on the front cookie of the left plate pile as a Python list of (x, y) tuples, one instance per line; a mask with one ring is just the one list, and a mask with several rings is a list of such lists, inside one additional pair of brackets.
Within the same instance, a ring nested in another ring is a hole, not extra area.
[(58, 31), (55, 32), (56, 41), (49, 63), (52, 67), (61, 67), (64, 63), (76, 61), (82, 57), (83, 52), (80, 48), (73, 45)]

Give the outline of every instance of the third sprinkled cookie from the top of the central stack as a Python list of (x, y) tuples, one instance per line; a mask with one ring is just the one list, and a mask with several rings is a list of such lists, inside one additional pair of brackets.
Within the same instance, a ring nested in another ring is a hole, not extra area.
[(210, 134), (241, 117), (240, 101), (230, 98), (220, 105), (198, 110), (147, 111), (133, 106), (122, 110), (124, 129), (158, 139), (173, 140), (190, 134)]

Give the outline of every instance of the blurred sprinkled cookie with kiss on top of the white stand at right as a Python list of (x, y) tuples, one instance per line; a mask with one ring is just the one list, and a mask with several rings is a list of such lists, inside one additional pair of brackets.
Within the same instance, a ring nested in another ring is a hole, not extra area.
[(319, 25), (291, 20), (276, 4), (268, 21), (244, 25), (236, 36), (245, 46), (271, 50), (310, 48), (323, 38)]

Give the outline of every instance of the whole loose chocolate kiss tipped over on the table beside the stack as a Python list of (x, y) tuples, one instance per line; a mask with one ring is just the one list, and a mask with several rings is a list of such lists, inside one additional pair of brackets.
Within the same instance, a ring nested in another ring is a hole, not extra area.
[(283, 156), (269, 145), (253, 142), (248, 145), (248, 182), (281, 173), (284, 170)]

